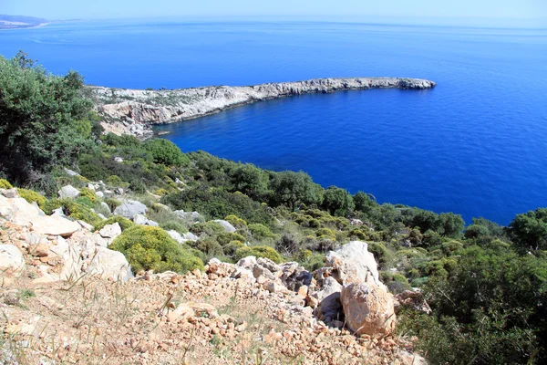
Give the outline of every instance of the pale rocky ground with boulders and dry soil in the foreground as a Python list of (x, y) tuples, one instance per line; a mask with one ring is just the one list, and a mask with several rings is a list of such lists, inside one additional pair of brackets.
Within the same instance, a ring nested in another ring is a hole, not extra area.
[[(425, 362), (397, 337), (397, 299), (366, 243), (330, 252), (316, 273), (249, 256), (133, 276), (108, 249), (120, 234), (111, 225), (93, 232), (0, 190), (0, 362)], [(416, 304), (412, 293), (399, 301)]]

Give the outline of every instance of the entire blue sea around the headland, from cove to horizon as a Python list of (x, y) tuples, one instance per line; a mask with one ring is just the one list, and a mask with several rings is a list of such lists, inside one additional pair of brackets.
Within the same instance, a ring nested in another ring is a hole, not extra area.
[(436, 89), (276, 99), (160, 129), (183, 151), (468, 223), (547, 206), (547, 29), (110, 20), (0, 32), (0, 54), (18, 49), (118, 88), (428, 78)]

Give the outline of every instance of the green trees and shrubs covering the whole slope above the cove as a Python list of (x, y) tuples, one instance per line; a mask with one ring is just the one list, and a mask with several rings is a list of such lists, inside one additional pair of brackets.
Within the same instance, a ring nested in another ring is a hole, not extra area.
[[(304, 172), (265, 171), (204, 151), (182, 153), (164, 140), (99, 137), (76, 73), (51, 76), (24, 54), (0, 57), (0, 70), (0, 177), (29, 188), (18, 191), (46, 214), (62, 207), (97, 229), (118, 222), (123, 232), (110, 248), (126, 255), (135, 271), (184, 272), (202, 268), (212, 256), (234, 262), (246, 255), (315, 270), (327, 251), (363, 240), (392, 292), (423, 290), (432, 314), (401, 313), (399, 329), (417, 335), (418, 349), (431, 363), (547, 361), (546, 208), (518, 214), (508, 227), (484, 218), (466, 227), (458, 214), (324, 189)], [(85, 177), (68, 176), (62, 167)], [(92, 209), (107, 203), (114, 210), (120, 202), (82, 189), (88, 179), (123, 188), (149, 207), (148, 217), (160, 227), (119, 216), (101, 219)], [(67, 183), (81, 190), (76, 200), (57, 199)], [(0, 188), (11, 187), (0, 179)], [(181, 219), (160, 203), (197, 211), (204, 220)], [(226, 233), (214, 219), (237, 231)], [(181, 245), (166, 230), (190, 231), (199, 239)]]

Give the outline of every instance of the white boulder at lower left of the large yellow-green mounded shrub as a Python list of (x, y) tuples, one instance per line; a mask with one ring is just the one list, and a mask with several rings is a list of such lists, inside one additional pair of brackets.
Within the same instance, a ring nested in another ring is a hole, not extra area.
[(101, 246), (96, 248), (96, 252), (91, 256), (90, 261), (88, 261), (85, 271), (88, 275), (100, 276), (103, 279), (111, 278), (123, 282), (133, 277), (129, 262), (122, 253)]

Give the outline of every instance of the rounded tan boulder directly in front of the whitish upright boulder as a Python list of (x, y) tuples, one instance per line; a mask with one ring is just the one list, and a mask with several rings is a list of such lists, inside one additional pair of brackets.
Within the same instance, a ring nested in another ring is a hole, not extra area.
[(357, 335), (384, 336), (395, 329), (393, 296), (384, 286), (366, 282), (348, 284), (342, 288), (340, 302), (347, 328)]

